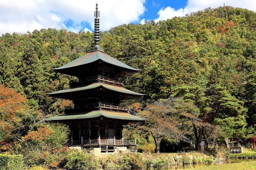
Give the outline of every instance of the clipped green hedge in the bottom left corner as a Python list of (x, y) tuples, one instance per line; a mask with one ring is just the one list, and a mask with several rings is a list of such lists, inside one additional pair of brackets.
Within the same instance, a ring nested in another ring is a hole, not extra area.
[(22, 155), (0, 154), (0, 170), (18, 170), (22, 166)]

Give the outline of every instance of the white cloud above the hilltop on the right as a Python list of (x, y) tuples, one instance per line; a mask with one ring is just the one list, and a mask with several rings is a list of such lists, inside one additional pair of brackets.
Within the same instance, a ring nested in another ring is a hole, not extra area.
[(166, 8), (161, 8), (158, 11), (159, 17), (155, 21), (166, 20), (173, 18), (174, 16), (181, 17), (191, 12), (197, 12), (199, 10), (204, 10), (207, 7), (215, 8), (223, 6), (225, 3), (226, 6), (241, 7), (248, 10), (256, 11), (256, 1), (255, 0), (188, 0), (187, 6), (175, 10), (171, 6)]

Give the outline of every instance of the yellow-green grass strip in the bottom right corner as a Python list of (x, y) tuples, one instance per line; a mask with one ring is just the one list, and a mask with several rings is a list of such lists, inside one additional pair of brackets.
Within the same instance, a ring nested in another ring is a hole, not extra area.
[(255, 159), (243, 159), (240, 163), (230, 163), (230, 164), (222, 164), (222, 165), (203, 165), (195, 168), (190, 168), (193, 170), (217, 170), (217, 169), (225, 169), (225, 170), (233, 170), (233, 169), (256, 169), (256, 160)]

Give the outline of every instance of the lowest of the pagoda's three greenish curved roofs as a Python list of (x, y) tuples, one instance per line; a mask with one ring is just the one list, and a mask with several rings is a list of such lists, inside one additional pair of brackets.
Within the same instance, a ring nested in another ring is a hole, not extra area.
[(91, 119), (97, 117), (106, 117), (110, 119), (119, 119), (119, 120), (128, 120), (128, 121), (144, 121), (144, 119), (130, 115), (128, 113), (120, 113), (120, 112), (109, 112), (109, 111), (91, 111), (91, 112), (79, 112), (79, 113), (70, 113), (70, 114), (62, 114), (59, 116), (53, 116), (51, 118), (45, 119), (46, 121), (65, 121), (65, 120), (73, 120), (73, 119)]

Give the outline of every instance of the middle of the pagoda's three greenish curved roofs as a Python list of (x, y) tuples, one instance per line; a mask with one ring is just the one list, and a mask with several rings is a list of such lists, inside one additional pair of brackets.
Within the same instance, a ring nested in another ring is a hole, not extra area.
[(143, 95), (145, 95), (145, 94), (140, 94), (140, 93), (128, 90), (128, 89), (123, 88), (123, 87), (113, 86), (113, 85), (110, 85), (110, 84), (104, 84), (104, 83), (100, 83), (100, 82), (89, 84), (89, 85), (87, 84), (87, 85), (69, 87), (69, 88), (59, 90), (59, 91), (56, 91), (56, 92), (47, 93), (47, 95), (49, 95), (49, 96), (63, 96), (63, 94), (66, 94), (66, 93), (96, 89), (98, 87), (103, 87), (103, 88), (111, 90), (111, 91), (116, 91), (116, 92), (120, 92), (120, 93), (124, 93), (124, 94), (128, 94), (128, 95), (134, 95), (134, 96), (143, 96)]

